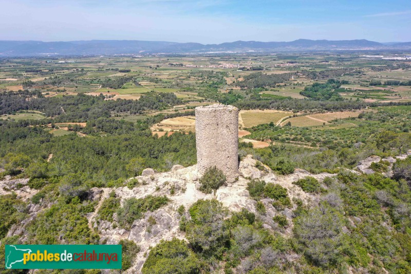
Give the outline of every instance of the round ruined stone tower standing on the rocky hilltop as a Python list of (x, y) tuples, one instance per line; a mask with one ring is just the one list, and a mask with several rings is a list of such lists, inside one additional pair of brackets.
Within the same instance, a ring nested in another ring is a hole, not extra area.
[(238, 177), (238, 109), (214, 104), (198, 106), (195, 113), (199, 173), (216, 166), (229, 182), (234, 181)]

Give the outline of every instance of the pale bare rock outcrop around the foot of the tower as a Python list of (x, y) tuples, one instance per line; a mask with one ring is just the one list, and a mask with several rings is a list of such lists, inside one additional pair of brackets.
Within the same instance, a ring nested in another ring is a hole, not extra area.
[[(94, 229), (99, 232), (102, 241), (107, 244), (116, 244), (121, 239), (135, 241), (140, 246), (141, 251), (137, 254), (135, 263), (132, 268), (127, 270), (127, 273), (139, 273), (146, 255), (150, 252), (150, 248), (157, 245), (161, 239), (171, 240), (173, 237), (185, 239), (184, 233), (179, 230), (181, 216), (177, 213), (177, 209), (181, 205), (184, 206), (185, 210), (188, 210), (199, 199), (216, 198), (231, 211), (240, 211), (242, 208), (246, 208), (251, 212), (255, 212), (263, 221), (265, 228), (279, 230), (287, 235), (292, 233), (292, 209), (278, 211), (272, 206), (272, 199), (263, 199), (267, 212), (264, 215), (259, 215), (255, 208), (256, 201), (250, 197), (247, 190), (250, 179), (261, 179), (267, 183), (279, 184), (287, 188), (290, 199), (296, 197), (303, 200), (303, 203), (309, 204), (316, 203), (319, 198), (305, 193), (300, 187), (293, 185), (292, 182), (306, 176), (313, 176), (320, 181), (327, 176), (333, 176), (329, 173), (312, 175), (305, 170), (299, 169), (287, 176), (274, 175), (267, 166), (253, 159), (251, 155), (247, 155), (240, 162), (239, 173), (238, 180), (220, 187), (213, 195), (204, 194), (196, 188), (199, 177), (197, 166), (187, 168), (178, 166), (164, 173), (143, 172), (142, 176), (135, 177), (138, 181), (144, 182), (143, 184), (133, 189), (128, 189), (128, 187), (115, 189), (116, 196), (121, 198), (121, 204), (127, 198), (144, 198), (147, 195), (166, 195), (171, 202), (155, 212), (146, 212), (143, 218), (134, 221), (129, 231), (118, 226), (116, 214), (113, 216), (115, 220), (113, 223), (96, 220)], [(171, 189), (173, 189), (173, 192)], [(277, 214), (287, 216), (290, 226), (286, 229), (280, 229), (272, 220), (272, 217)]]

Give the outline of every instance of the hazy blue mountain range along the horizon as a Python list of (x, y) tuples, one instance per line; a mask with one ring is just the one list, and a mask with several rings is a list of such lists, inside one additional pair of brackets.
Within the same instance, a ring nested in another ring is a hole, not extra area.
[(368, 40), (329, 41), (298, 39), (292, 42), (236, 41), (231, 43), (203, 45), (199, 43), (138, 40), (90, 40), (70, 42), (0, 41), (0, 57), (385, 49), (411, 50), (411, 42), (378, 43)]

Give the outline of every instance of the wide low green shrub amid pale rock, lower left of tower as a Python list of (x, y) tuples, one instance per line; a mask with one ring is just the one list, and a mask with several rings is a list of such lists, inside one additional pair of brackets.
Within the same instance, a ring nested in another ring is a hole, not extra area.
[(130, 229), (135, 220), (142, 218), (147, 211), (155, 211), (169, 202), (166, 196), (148, 195), (145, 198), (128, 198), (124, 202), (124, 207), (117, 210), (119, 223), (125, 229)]

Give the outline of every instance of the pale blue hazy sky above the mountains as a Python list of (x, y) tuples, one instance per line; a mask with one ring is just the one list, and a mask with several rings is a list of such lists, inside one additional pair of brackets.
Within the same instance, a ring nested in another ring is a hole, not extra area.
[(411, 41), (411, 0), (2, 0), (0, 40)]

